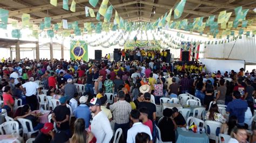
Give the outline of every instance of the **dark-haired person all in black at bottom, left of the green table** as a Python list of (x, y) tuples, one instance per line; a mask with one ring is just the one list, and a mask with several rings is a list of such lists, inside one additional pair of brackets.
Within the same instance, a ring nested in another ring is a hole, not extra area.
[(172, 110), (169, 108), (164, 109), (164, 117), (160, 118), (158, 121), (158, 127), (161, 132), (162, 141), (172, 141), (175, 143), (175, 130), (177, 128), (176, 122), (171, 118)]

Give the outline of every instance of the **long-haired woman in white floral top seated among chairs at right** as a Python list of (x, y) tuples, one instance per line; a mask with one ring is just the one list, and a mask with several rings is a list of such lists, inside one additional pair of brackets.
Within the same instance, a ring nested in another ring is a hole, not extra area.
[(206, 113), (205, 120), (218, 121), (220, 123), (225, 123), (226, 118), (219, 113), (219, 108), (217, 104), (212, 104), (210, 111)]

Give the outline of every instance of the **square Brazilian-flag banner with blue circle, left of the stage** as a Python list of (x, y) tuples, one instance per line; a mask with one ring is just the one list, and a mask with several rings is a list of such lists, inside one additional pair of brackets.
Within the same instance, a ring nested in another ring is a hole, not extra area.
[(87, 43), (85, 41), (71, 41), (70, 58), (88, 61)]

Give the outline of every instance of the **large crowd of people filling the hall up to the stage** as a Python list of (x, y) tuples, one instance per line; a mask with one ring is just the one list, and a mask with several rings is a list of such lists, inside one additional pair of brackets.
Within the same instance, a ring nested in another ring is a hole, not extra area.
[[(246, 141), (247, 135), (238, 136), (252, 124), (254, 70), (207, 73), (207, 65), (170, 63), (166, 62), (166, 55), (166, 51), (136, 49), (122, 50), (119, 61), (107, 62), (2, 59), (2, 108), (15, 120), (31, 120), (33, 129), (40, 130), (34, 142), (110, 142), (118, 128), (123, 131), (122, 142), (153, 142), (154, 125), (159, 127), (162, 141), (176, 142), (175, 131), (177, 127), (186, 127), (186, 120), (177, 108), (166, 108), (163, 117), (157, 117), (157, 105), (161, 97), (177, 98), (187, 92), (200, 99), (208, 111), (206, 120), (223, 124), (221, 133), (231, 135), (233, 141)], [(77, 84), (85, 85), (83, 93)], [(51, 123), (39, 123), (39, 115), (31, 113), (39, 109), (37, 96), (43, 94), (42, 90), (60, 103), (52, 109)], [(116, 95), (113, 103), (107, 102), (105, 93)], [(155, 103), (151, 102), (153, 97)], [(23, 106), (14, 112), (18, 98)], [(217, 104), (227, 105), (229, 118), (219, 112)], [(256, 141), (254, 138), (253, 134), (251, 141)]]

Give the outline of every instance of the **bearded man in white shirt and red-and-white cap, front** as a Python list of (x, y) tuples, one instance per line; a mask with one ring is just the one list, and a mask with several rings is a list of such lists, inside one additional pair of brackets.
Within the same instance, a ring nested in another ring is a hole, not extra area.
[(94, 113), (91, 122), (91, 132), (95, 136), (97, 143), (107, 143), (112, 139), (113, 131), (109, 119), (107, 119), (105, 113), (100, 109), (100, 104), (100, 99), (96, 97), (92, 98), (89, 103), (90, 110)]

